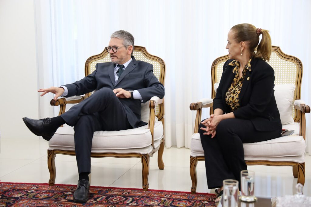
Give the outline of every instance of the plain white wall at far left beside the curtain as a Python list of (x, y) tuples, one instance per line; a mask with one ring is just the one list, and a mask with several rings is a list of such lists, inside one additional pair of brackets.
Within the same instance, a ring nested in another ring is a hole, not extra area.
[(37, 138), (24, 116), (38, 119), (35, 15), (32, 0), (0, 0), (0, 133)]

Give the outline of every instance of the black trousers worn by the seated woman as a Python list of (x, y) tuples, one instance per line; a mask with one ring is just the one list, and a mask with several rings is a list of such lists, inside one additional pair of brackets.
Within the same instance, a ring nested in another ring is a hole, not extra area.
[(208, 188), (222, 186), (225, 179), (238, 180), (241, 183), (240, 172), (247, 170), (244, 161), (243, 143), (262, 142), (280, 137), (281, 128), (270, 132), (257, 131), (253, 123), (246, 119), (225, 119), (216, 128), (216, 136), (199, 133), (204, 150), (205, 168)]

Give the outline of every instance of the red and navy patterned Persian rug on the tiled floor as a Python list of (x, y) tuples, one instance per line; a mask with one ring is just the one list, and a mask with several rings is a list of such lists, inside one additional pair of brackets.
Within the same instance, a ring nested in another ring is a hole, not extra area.
[(215, 206), (216, 196), (208, 193), (190, 194), (179, 191), (160, 191), (114, 187), (90, 188), (89, 200), (85, 204), (73, 203), (74, 185), (54, 185), (39, 183), (0, 182), (0, 207), (9, 206)]

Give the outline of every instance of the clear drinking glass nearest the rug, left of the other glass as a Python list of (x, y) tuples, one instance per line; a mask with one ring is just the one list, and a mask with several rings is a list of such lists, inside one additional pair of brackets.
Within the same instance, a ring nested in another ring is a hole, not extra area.
[(238, 207), (239, 181), (227, 179), (223, 181), (223, 206)]

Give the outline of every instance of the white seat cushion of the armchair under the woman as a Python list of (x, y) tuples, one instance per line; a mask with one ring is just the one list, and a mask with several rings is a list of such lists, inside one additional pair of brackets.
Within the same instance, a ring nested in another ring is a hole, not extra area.
[[(294, 129), (291, 136), (243, 144), (245, 160), (295, 161), (304, 162), (305, 141), (299, 136), (299, 123), (284, 125), (283, 128)], [(204, 156), (200, 134), (195, 133), (191, 138), (191, 156)]]

